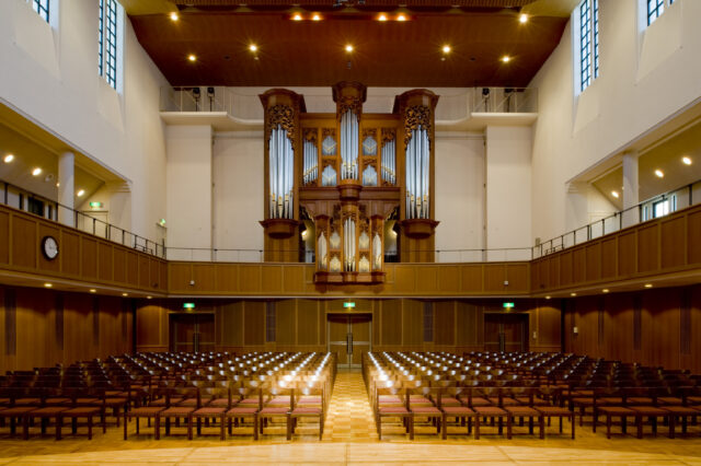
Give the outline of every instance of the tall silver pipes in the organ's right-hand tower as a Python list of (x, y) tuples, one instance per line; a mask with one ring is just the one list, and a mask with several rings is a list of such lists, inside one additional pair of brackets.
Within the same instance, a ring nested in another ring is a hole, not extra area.
[(412, 130), (406, 144), (406, 218), (428, 219), (428, 175), (429, 175), (428, 131), (423, 126)]

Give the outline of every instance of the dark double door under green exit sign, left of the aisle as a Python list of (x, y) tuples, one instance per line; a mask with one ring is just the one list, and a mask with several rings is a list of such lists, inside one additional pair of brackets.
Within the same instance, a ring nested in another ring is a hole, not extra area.
[(207, 352), (215, 350), (214, 314), (171, 314), (170, 350)]

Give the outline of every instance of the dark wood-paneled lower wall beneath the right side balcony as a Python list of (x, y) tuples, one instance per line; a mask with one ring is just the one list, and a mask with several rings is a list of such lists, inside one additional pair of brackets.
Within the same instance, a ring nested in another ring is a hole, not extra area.
[(563, 305), (566, 351), (701, 372), (701, 286), (586, 296)]

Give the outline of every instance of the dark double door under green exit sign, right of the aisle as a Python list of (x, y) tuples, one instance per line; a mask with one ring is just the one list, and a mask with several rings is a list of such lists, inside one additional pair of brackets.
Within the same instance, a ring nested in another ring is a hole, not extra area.
[(485, 351), (528, 351), (528, 314), (484, 314)]

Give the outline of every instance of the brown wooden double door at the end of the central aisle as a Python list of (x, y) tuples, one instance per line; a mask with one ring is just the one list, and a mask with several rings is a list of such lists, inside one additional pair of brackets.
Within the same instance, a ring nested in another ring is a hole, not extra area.
[(371, 351), (371, 314), (327, 314), (329, 351), (335, 352), (340, 368), (360, 368), (363, 354)]

